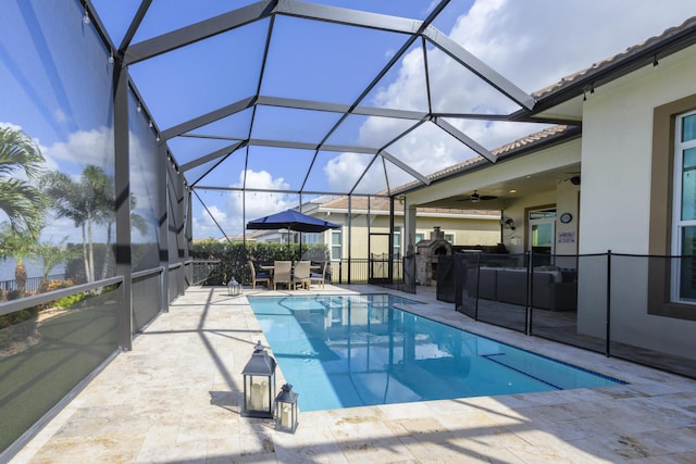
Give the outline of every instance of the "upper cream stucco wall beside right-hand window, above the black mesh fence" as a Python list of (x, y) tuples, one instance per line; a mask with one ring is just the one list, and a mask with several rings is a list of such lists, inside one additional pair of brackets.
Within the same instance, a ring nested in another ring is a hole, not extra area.
[(588, 96), (581, 253), (648, 253), (654, 109), (695, 92), (692, 47)]

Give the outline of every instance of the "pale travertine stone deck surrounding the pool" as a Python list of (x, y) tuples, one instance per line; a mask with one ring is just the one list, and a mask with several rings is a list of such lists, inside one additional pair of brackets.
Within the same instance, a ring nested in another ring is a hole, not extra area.
[(189, 288), (11, 463), (696, 462), (696, 381), (473, 322), (427, 288), (414, 312), (630, 385), (301, 412), (295, 435), (276, 431), (239, 415), (241, 369), (265, 342), (251, 293), (307, 291)]

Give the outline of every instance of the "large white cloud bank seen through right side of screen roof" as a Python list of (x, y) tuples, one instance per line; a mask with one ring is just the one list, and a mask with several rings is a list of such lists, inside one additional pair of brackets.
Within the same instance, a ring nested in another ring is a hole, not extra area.
[[(512, 84), (532, 93), (659, 35), (693, 14), (693, 4), (681, 0), (477, 0), (452, 29), (445, 33)], [(372, 104), (422, 110), (422, 51), (407, 54), (399, 66), (398, 78), (380, 88)], [(519, 108), (472, 78), (443, 52), (430, 52), (428, 66), (434, 111), (509, 113)], [(488, 149), (544, 127), (449, 122)], [(360, 140), (375, 139), (389, 130), (387, 124), (382, 118), (370, 118), (361, 128)], [(424, 174), (471, 155), (459, 142), (452, 143), (449, 136), (433, 128), (410, 135), (388, 151)], [(364, 164), (360, 165), (351, 153), (336, 156), (326, 165), (330, 185), (337, 189), (344, 187), (345, 180), (359, 167), (364, 168)], [(365, 181), (374, 181), (375, 190), (381, 188), (377, 179)], [(390, 181), (394, 186), (394, 179)]]

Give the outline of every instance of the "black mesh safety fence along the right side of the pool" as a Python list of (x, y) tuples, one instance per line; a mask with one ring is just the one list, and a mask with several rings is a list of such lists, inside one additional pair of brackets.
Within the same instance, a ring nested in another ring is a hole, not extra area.
[[(694, 256), (456, 253), (444, 296), (470, 317), (696, 378)], [(439, 268), (439, 267), (438, 267)], [(438, 298), (440, 297), (438, 280)]]

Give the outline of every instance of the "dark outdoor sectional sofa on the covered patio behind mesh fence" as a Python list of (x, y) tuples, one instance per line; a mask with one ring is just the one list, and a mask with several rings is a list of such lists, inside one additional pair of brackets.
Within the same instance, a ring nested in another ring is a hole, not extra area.
[[(525, 267), (470, 268), (467, 272), (467, 290), (470, 297), (526, 305), (527, 276)], [(549, 311), (572, 311), (577, 308), (574, 271), (555, 266), (536, 267), (532, 285), (532, 306)]]

